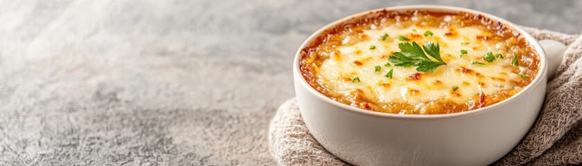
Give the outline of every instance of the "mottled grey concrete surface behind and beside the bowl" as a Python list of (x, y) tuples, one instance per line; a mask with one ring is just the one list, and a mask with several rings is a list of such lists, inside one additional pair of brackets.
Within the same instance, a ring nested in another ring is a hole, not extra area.
[(0, 1), (0, 165), (273, 165), (302, 41), (421, 3), (582, 30), (575, 0)]

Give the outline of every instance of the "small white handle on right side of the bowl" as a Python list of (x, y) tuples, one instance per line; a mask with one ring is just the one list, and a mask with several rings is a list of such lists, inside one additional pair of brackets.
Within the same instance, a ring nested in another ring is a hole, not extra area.
[(555, 41), (555, 40), (540, 40), (538, 41), (547, 57), (547, 78), (551, 80), (556, 75), (556, 70), (558, 70), (558, 66), (562, 63), (562, 59), (564, 59), (564, 52), (566, 51), (566, 45)]

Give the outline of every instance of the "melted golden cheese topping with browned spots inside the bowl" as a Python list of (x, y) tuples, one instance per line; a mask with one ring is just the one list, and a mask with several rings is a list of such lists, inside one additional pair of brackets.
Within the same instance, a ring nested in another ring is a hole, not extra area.
[[(506, 32), (499, 33), (483, 24), (467, 26), (474, 21), (463, 21), (466, 15), (416, 12), (405, 18), (397, 15), (352, 26), (327, 36), (318, 49), (311, 51), (302, 65), (309, 66), (303, 69), (311, 69), (313, 75), (304, 76), (334, 100), (362, 109), (407, 114), (454, 113), (486, 107), (527, 86), (535, 77), (539, 62), (524, 39), (506, 28)], [(427, 20), (434, 21), (434, 26), (427, 25)], [(425, 37), (427, 30), (433, 35)], [(386, 39), (382, 39), (384, 34), (388, 35)], [(421, 46), (426, 42), (440, 44), (440, 57), (447, 64), (434, 73), (416, 71), (416, 66), (394, 66), (388, 57), (401, 51), (400, 36)], [(461, 50), (468, 53), (461, 57)], [(484, 57), (488, 52), (503, 58), (487, 62)], [(513, 66), (514, 56), (529, 62)], [(375, 66), (380, 66), (380, 71)], [(385, 76), (390, 70), (392, 78)], [(529, 77), (522, 76), (525, 74)], [(355, 77), (359, 82), (354, 81)]]

